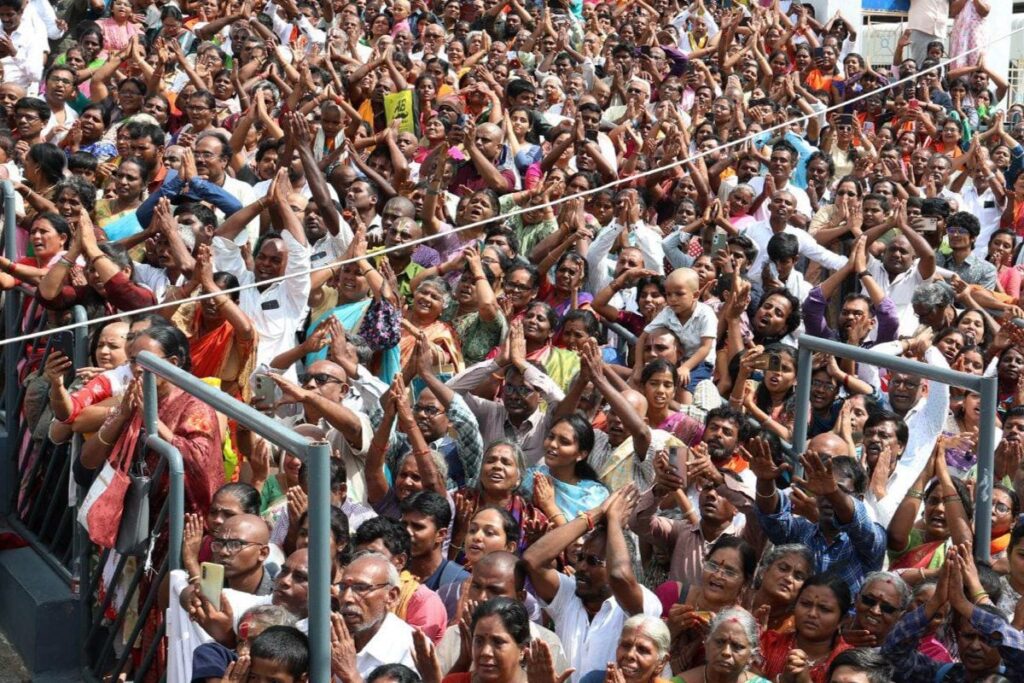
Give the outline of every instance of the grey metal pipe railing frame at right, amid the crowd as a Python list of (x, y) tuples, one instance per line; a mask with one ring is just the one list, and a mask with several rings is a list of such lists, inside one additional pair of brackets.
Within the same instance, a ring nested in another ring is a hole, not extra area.
[(995, 473), (995, 411), (998, 404), (995, 376), (969, 375), (949, 368), (930, 366), (920, 360), (851, 346), (831, 339), (803, 335), (800, 338), (797, 359), (796, 416), (793, 426), (795, 459), (793, 465), (794, 471), (798, 474), (801, 468), (796, 459), (807, 449), (807, 426), (811, 410), (811, 354), (816, 352), (907, 373), (980, 394), (981, 424), (978, 435), (978, 483), (975, 488), (974, 554), (979, 560), (989, 561), (989, 544), (992, 539), (992, 478)]

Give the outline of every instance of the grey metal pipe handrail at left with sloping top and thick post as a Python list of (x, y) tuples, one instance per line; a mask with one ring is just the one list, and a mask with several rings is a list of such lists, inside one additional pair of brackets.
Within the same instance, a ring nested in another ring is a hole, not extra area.
[[(135, 357), (135, 362), (144, 371), (143, 415), (146, 443), (157, 443), (164, 447), (166, 441), (157, 436), (157, 383), (159, 376), (187, 393), (202, 399), (218, 413), (236, 420), (240, 425), (263, 436), (285, 449), (306, 463), (309, 468), (309, 680), (331, 680), (331, 446), (327, 441), (310, 441), (297, 432), (282, 426), (262, 413), (232, 398), (220, 389), (199, 380), (177, 366), (143, 351)], [(170, 465), (170, 460), (168, 460)], [(183, 513), (183, 490), (181, 492)], [(173, 500), (173, 499), (172, 499)], [(183, 526), (183, 514), (172, 514), (171, 552), (175, 546), (180, 553), (181, 537), (175, 528)], [(180, 558), (180, 555), (178, 556)], [(171, 567), (174, 555), (170, 556)]]

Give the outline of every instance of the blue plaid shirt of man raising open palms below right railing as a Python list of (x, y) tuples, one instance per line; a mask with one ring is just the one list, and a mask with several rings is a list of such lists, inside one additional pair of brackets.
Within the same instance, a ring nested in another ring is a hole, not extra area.
[(788, 492), (778, 492), (778, 511), (774, 514), (766, 515), (758, 509), (761, 527), (773, 544), (804, 544), (814, 554), (817, 571), (836, 572), (846, 580), (854, 595), (865, 574), (882, 568), (886, 530), (871, 521), (863, 503), (854, 499), (853, 521), (840, 526), (839, 535), (829, 543), (817, 524), (794, 514)]

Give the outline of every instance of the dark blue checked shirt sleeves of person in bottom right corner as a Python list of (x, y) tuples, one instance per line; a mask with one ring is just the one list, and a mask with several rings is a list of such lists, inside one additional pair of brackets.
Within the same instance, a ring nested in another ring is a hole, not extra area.
[[(896, 683), (934, 683), (940, 672), (943, 678), (939, 680), (944, 683), (966, 680), (964, 665), (949, 667), (918, 651), (929, 622), (924, 605), (918, 607), (896, 623), (882, 645), (882, 655), (895, 668)], [(1024, 633), (984, 609), (971, 612), (971, 625), (998, 647), (1002, 656), (1001, 674), (1011, 681), (1024, 681)]]

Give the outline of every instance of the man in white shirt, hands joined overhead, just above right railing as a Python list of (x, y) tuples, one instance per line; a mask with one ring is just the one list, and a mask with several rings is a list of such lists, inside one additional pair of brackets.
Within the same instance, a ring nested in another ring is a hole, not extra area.
[(918, 315), (911, 304), (913, 293), (935, 273), (935, 251), (910, 227), (906, 210), (900, 208), (891, 220), (877, 225), (868, 226), (865, 214), (864, 234), (869, 254), (879, 253), (874, 241), (892, 229), (894, 223), (898, 233), (882, 250), (881, 260), (873, 255), (867, 257), (866, 270), (893, 302), (899, 318), (898, 334), (910, 335), (918, 327)]

